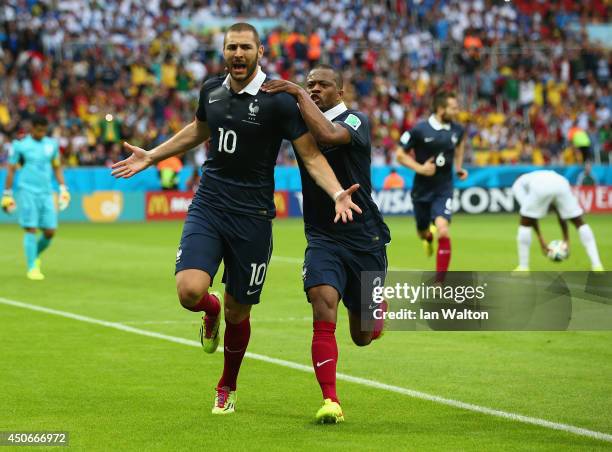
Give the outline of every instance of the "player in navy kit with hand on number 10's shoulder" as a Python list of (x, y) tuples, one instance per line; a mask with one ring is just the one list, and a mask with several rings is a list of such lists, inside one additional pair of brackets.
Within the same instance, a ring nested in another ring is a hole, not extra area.
[[(287, 80), (273, 80), (263, 89), (294, 96), (308, 129), (340, 183), (354, 181), (360, 186), (353, 197), (361, 206), (362, 214), (350, 224), (334, 223), (333, 203), (305, 171), (298, 156), (308, 241), (304, 291), (313, 312), (312, 366), (323, 394), (323, 406), (315, 419), (321, 423), (338, 423), (344, 421), (336, 393), (338, 346), (335, 331), (340, 300), (348, 310), (355, 344), (370, 344), (382, 335), (384, 326), (384, 322), (379, 321), (374, 323), (373, 331), (362, 331), (361, 322), (362, 272), (376, 272), (384, 279), (386, 245), (391, 240), (389, 228), (371, 194), (370, 121), (365, 114), (344, 103), (342, 73), (329, 65), (314, 67), (308, 73), (305, 89)], [(366, 300), (367, 305), (371, 302)], [(386, 309), (386, 302), (383, 303)]]

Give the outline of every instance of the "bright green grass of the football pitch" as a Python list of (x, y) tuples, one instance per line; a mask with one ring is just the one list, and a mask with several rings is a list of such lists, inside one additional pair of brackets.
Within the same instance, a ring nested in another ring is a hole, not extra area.
[[(588, 217), (612, 265), (611, 216)], [(389, 264), (434, 266), (411, 218), (389, 218)], [(455, 270), (516, 265), (517, 217), (456, 216)], [(198, 316), (179, 307), (174, 258), (180, 223), (60, 226), (43, 257), (43, 282), (25, 279), (22, 232), (0, 227), (0, 297), (195, 340)], [(543, 222), (559, 238), (554, 219)], [(249, 351), (309, 365), (310, 307), (301, 289), (301, 220), (274, 224), (263, 301)], [(573, 228), (572, 255), (534, 270), (587, 270)], [(293, 258), (293, 259), (286, 259)], [(220, 279), (220, 278), (218, 278)], [(215, 287), (221, 287), (219, 283)], [(388, 332), (358, 348), (344, 309), (339, 372), (451, 399), (612, 432), (610, 332)], [(210, 414), (222, 354), (0, 304), (0, 430), (65, 430), (87, 450), (462, 449), (593, 450), (610, 443), (339, 382), (346, 422), (319, 426), (313, 374), (245, 359), (238, 411)], [(22, 450), (22, 449), (19, 449)]]

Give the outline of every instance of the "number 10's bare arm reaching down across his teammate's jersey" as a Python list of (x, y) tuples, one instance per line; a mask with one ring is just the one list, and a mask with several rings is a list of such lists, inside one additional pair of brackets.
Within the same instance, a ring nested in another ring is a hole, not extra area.
[(310, 133), (305, 133), (301, 137), (293, 140), (293, 147), (300, 155), (304, 166), (314, 181), (329, 195), (336, 203), (336, 217), (334, 223), (340, 218), (342, 222), (353, 221), (353, 210), (361, 213), (359, 206), (351, 200), (351, 194), (357, 191), (359, 184), (354, 184), (344, 190), (336, 175), (334, 174), (329, 162), (325, 158)]

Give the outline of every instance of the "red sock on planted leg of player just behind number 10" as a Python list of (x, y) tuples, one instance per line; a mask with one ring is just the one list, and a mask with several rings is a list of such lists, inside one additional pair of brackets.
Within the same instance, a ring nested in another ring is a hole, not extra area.
[(336, 344), (336, 324), (315, 320), (312, 335), (312, 367), (321, 386), (324, 399), (338, 402), (336, 395), (336, 363), (338, 345)]

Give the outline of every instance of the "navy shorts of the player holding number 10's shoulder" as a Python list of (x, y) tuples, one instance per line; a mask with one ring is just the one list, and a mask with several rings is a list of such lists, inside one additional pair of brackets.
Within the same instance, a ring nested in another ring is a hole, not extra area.
[[(355, 251), (328, 238), (308, 238), (304, 258), (304, 291), (327, 285), (334, 287), (346, 308), (361, 312), (361, 272), (387, 272), (387, 249)], [(369, 291), (371, 293), (371, 291)], [(310, 301), (310, 300), (308, 300)], [(369, 303), (367, 300), (366, 303)]]

